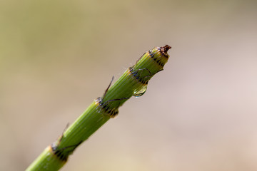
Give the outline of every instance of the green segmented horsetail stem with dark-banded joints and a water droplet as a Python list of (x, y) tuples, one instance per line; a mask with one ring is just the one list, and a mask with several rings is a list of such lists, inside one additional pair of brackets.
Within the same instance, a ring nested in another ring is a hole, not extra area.
[(167, 51), (170, 48), (171, 46), (166, 45), (144, 53), (113, 86), (110, 83), (104, 95), (94, 100), (89, 108), (64, 131), (63, 135), (46, 147), (26, 170), (59, 170), (81, 142), (119, 113), (118, 108), (126, 100), (146, 92), (148, 81), (162, 71), (168, 61)]

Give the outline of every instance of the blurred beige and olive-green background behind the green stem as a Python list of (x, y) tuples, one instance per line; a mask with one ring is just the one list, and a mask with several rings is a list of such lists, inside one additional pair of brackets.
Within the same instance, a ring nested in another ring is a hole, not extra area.
[(257, 170), (257, 1), (0, 1), (0, 170), (24, 170), (154, 46), (164, 71), (62, 170)]

